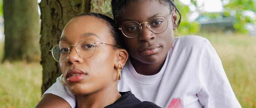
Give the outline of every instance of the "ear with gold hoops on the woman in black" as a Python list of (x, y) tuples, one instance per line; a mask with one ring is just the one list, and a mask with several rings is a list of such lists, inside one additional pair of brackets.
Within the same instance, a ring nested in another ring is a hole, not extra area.
[(117, 52), (115, 67), (118, 68), (120, 65), (125, 66), (125, 62), (128, 59), (128, 52), (125, 49), (117, 49)]

